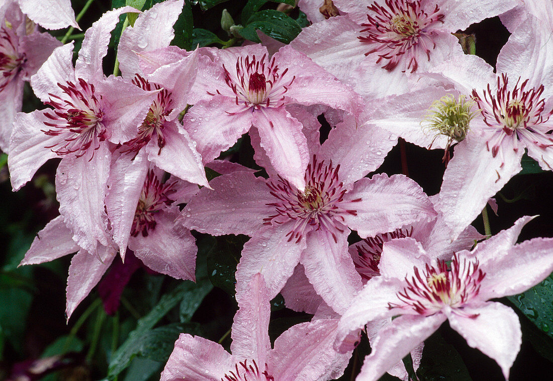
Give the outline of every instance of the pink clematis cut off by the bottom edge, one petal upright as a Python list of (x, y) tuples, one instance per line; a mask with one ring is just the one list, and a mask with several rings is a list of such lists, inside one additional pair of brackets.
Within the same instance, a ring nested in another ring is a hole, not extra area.
[(238, 303), (232, 325), (232, 355), (220, 344), (181, 333), (161, 380), (299, 381), (340, 377), (351, 352), (338, 354), (332, 349), (338, 320), (321, 317), (295, 325), (276, 338), (271, 348), (269, 301), (263, 277), (257, 274)]

